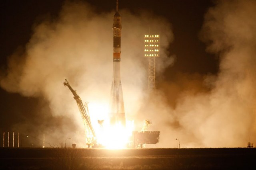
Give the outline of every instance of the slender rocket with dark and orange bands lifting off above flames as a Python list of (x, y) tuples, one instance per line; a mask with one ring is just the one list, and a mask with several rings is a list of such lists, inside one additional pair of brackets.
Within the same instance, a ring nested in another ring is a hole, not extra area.
[(118, 13), (118, 0), (116, 0), (116, 13), (113, 23), (113, 81), (111, 86), (111, 113), (110, 123), (126, 124), (124, 114), (124, 99), (122, 92), (122, 84), (120, 78), (120, 62), (121, 62), (121, 16)]

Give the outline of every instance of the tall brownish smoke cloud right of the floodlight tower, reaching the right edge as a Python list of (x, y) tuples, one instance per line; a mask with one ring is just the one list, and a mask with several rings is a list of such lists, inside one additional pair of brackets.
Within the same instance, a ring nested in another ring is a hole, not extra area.
[(216, 1), (208, 10), (200, 37), (207, 51), (219, 57), (219, 72), (201, 76), (202, 83), (196, 83), (200, 76), (180, 76), (186, 81), (162, 86), (167, 92), (165, 86), (177, 88), (179, 82), (196, 85), (178, 95), (175, 109), (159, 110), (166, 113), (166, 121), (157, 119), (164, 125), (160, 131), (170, 136), (161, 138), (164, 146), (177, 146), (176, 138), (181, 147), (246, 147), (256, 142), (255, 21), (254, 0)]

